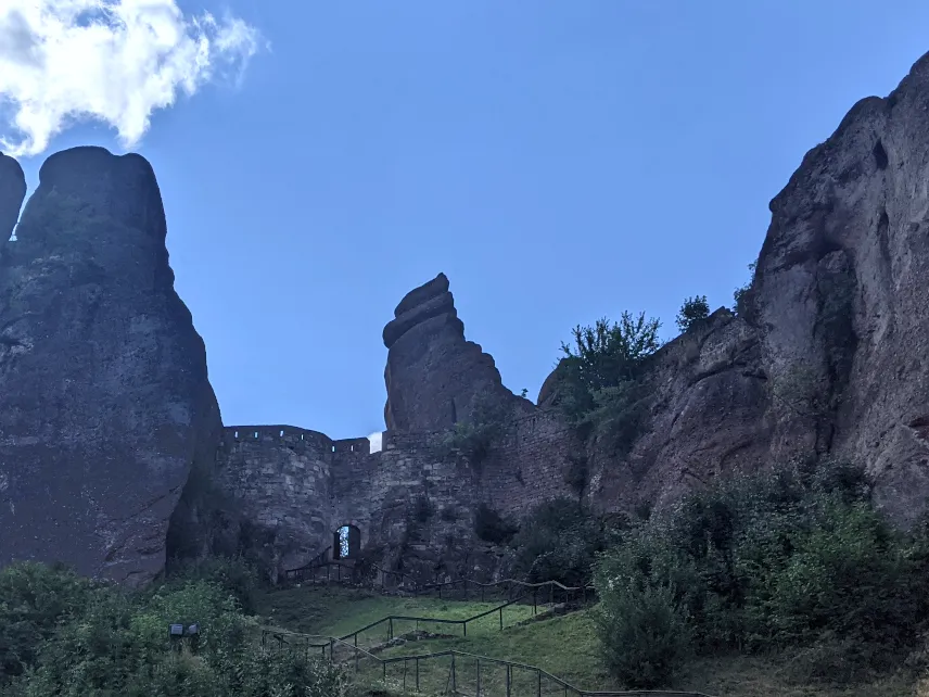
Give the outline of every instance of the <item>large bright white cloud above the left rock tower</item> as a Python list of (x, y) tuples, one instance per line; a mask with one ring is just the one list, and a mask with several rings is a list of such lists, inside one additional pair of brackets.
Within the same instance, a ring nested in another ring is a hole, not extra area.
[(37, 155), (79, 121), (126, 148), (152, 114), (216, 79), (241, 79), (262, 46), (236, 17), (176, 0), (0, 0), (0, 150)]

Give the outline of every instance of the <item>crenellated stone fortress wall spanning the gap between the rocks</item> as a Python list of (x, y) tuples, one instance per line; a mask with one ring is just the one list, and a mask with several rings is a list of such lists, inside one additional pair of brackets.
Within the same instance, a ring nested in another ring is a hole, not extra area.
[[(518, 518), (536, 503), (570, 494), (570, 438), (553, 411), (513, 419), (480, 464), (448, 453), (443, 433), (385, 431), (381, 449), (371, 453), (367, 438), (332, 440), (292, 426), (226, 427), (218, 483), (245, 520), (276, 531), (282, 569), (306, 563), (345, 524), (360, 531), (362, 548), (406, 540), (421, 556), (437, 558), (445, 547), (474, 542), (473, 514), (482, 503)], [(419, 538), (410, 541), (416, 516)]]

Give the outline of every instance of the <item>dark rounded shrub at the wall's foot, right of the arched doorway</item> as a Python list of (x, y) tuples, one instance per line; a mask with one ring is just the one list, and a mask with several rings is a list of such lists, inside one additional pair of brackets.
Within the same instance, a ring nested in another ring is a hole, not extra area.
[(516, 569), (532, 582), (582, 585), (605, 540), (603, 527), (576, 500), (545, 502), (525, 517), (511, 542)]

